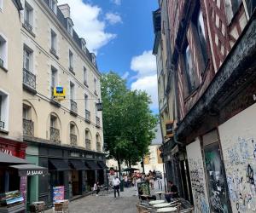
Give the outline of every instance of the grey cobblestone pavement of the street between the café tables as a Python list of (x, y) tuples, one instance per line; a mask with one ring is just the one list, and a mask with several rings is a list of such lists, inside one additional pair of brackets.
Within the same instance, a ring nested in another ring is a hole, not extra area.
[[(154, 183), (155, 189), (151, 194), (159, 191), (158, 182)], [(164, 186), (163, 186), (164, 187)], [(159, 199), (159, 198), (158, 198)], [(120, 193), (120, 197), (113, 198), (113, 193), (108, 195), (89, 195), (82, 199), (77, 199), (69, 204), (70, 213), (136, 213), (137, 190), (135, 187), (125, 188), (125, 192)], [(53, 210), (47, 210), (45, 213), (52, 213)]]

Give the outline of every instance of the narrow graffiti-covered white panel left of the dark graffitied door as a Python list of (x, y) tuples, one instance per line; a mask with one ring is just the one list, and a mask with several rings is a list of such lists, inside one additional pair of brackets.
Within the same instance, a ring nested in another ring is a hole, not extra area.
[(207, 196), (207, 184), (201, 156), (200, 141), (197, 139), (195, 142), (189, 144), (186, 149), (189, 160), (189, 174), (192, 186), (195, 213), (208, 213), (210, 210)]

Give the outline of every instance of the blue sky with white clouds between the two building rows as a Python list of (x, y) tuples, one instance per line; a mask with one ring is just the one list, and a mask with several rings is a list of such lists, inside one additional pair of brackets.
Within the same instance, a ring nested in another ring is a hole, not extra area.
[(68, 3), (74, 29), (96, 53), (101, 72), (118, 72), (131, 89), (151, 95), (158, 112), (152, 11), (157, 0), (59, 0)]

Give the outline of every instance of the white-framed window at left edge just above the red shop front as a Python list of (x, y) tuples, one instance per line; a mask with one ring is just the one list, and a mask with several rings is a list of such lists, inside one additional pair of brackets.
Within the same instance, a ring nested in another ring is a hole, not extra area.
[(0, 90), (0, 130), (7, 130), (9, 118), (9, 95)]

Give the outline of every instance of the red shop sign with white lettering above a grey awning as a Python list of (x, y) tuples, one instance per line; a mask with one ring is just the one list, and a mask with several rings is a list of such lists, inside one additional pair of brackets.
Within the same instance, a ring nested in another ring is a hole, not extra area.
[(13, 141), (0, 137), (0, 152), (15, 156), (17, 158), (26, 158), (26, 142)]

